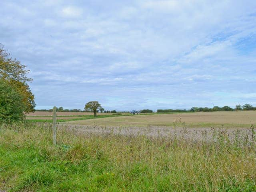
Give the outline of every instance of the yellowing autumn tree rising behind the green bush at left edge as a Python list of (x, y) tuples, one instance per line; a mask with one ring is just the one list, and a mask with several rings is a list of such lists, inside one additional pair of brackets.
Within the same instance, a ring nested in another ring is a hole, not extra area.
[(25, 106), (24, 112), (34, 112), (36, 104), (34, 95), (27, 84), (27, 82), (32, 82), (32, 79), (27, 76), (28, 73), (29, 70), (26, 70), (26, 66), (18, 60), (10, 58), (10, 54), (0, 44), (0, 79), (5, 80), (21, 95), (22, 103)]

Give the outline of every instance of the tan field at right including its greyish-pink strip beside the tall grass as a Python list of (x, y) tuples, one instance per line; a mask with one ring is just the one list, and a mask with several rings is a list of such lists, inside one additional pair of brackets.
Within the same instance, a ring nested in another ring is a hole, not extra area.
[(59, 127), (86, 134), (144, 134), (208, 140), (215, 134), (227, 134), (232, 138), (236, 134), (249, 136), (252, 124), (256, 124), (256, 111), (120, 116), (63, 122)]

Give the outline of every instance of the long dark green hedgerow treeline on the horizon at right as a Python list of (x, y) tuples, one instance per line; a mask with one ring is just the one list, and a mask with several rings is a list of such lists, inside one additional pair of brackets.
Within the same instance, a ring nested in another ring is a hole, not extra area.
[(186, 109), (158, 109), (158, 113), (170, 113), (170, 112), (211, 112), (211, 111), (239, 111), (239, 110), (256, 110), (256, 107), (253, 107), (251, 104), (236, 105), (236, 108), (231, 108), (230, 106), (218, 107), (214, 106), (213, 108), (208, 107), (192, 107), (190, 110)]

